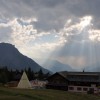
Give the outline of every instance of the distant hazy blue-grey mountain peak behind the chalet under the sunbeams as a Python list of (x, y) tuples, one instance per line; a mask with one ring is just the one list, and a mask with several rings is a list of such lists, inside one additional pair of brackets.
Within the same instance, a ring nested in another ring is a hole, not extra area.
[(74, 70), (71, 68), (70, 65), (60, 63), (57, 60), (49, 60), (43, 66), (46, 66), (46, 68), (48, 68), (53, 73), (59, 72), (59, 71), (73, 71)]

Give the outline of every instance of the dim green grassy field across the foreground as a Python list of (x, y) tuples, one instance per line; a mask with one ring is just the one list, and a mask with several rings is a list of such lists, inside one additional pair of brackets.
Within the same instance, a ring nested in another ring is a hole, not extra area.
[(0, 87), (0, 100), (100, 100), (100, 97), (58, 90), (21, 90)]

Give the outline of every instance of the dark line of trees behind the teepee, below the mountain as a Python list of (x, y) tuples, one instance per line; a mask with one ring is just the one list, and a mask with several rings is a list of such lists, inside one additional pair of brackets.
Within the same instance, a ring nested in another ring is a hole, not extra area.
[(5, 84), (10, 81), (19, 81), (23, 71), (26, 72), (29, 80), (46, 80), (50, 76), (49, 72), (44, 74), (42, 69), (40, 69), (38, 72), (34, 72), (30, 67), (24, 70), (9, 70), (7, 67), (0, 67), (0, 83)]

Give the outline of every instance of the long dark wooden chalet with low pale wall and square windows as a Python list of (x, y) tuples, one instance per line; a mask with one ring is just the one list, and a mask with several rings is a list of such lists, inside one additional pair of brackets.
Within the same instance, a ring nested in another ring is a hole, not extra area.
[(98, 91), (100, 72), (57, 72), (48, 79), (46, 88), (74, 92)]

